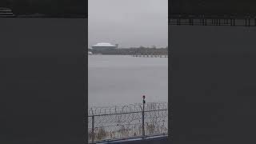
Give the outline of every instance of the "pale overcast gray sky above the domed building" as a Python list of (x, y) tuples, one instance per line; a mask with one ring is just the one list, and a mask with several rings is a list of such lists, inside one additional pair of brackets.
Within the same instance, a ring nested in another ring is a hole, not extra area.
[(168, 46), (168, 0), (89, 0), (88, 44)]

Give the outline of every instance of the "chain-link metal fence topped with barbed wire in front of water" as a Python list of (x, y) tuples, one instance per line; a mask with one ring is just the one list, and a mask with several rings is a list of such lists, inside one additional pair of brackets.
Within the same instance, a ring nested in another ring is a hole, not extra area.
[(167, 102), (92, 107), (87, 118), (89, 143), (168, 134)]

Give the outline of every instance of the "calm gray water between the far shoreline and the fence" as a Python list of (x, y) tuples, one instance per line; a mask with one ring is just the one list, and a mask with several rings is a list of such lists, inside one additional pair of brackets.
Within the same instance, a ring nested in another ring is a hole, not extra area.
[(168, 101), (168, 58), (89, 55), (89, 106)]

